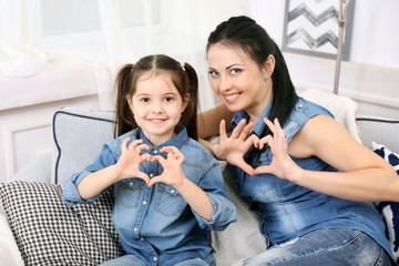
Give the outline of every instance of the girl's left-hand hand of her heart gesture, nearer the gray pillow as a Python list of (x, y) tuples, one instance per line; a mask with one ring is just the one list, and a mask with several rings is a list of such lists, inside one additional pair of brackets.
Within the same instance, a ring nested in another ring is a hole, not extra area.
[(141, 144), (143, 140), (133, 141), (127, 145), (129, 141), (130, 137), (126, 137), (122, 143), (122, 155), (115, 164), (117, 175), (120, 180), (139, 177), (149, 184), (149, 175), (141, 172), (139, 166), (145, 161), (151, 161), (150, 154), (140, 155), (143, 150), (150, 150), (150, 146), (147, 144)]

